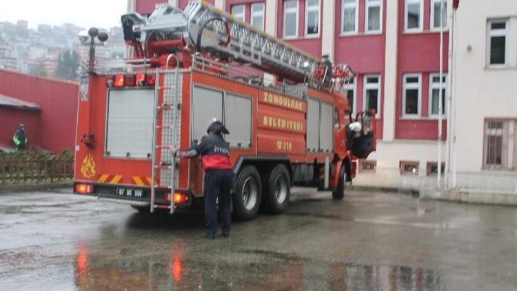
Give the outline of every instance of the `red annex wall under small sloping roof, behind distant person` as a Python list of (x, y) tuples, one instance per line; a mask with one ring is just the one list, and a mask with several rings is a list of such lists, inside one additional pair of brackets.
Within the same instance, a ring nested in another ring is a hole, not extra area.
[(19, 110), (15, 108), (0, 107), (0, 145), (13, 148), (12, 136), (18, 129), (20, 123), (25, 124), (25, 132), (29, 143), (28, 146), (41, 145), (40, 137), (40, 110)]

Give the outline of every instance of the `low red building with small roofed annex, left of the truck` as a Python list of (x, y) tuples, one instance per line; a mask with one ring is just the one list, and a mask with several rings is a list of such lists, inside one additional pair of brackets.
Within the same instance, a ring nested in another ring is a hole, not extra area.
[(77, 83), (0, 70), (0, 148), (25, 123), (30, 146), (73, 151), (78, 96)]

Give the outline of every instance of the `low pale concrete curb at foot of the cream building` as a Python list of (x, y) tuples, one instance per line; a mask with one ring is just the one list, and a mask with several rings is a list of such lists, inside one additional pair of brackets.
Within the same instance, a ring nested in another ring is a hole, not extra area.
[(422, 190), (420, 199), (452, 201), (469, 204), (517, 205), (517, 193), (481, 190)]

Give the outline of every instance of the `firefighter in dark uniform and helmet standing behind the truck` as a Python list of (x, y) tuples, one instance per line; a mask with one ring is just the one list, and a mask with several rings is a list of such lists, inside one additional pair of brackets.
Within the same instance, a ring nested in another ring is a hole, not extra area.
[(229, 134), (223, 123), (212, 118), (208, 121), (207, 134), (197, 145), (189, 150), (178, 150), (174, 154), (180, 158), (192, 158), (201, 155), (203, 170), (205, 170), (205, 238), (215, 239), (217, 232), (217, 205), (222, 217), (222, 235), (230, 236), (231, 223), (231, 190), (232, 190), (232, 163), (230, 150), (223, 134)]

